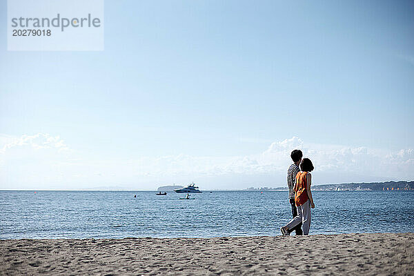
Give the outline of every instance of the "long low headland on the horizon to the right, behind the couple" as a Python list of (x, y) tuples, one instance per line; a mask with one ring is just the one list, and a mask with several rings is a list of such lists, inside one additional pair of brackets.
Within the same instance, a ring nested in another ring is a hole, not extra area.
[[(246, 190), (288, 190), (288, 187), (247, 188)], [(315, 185), (312, 190), (414, 190), (414, 181), (388, 181), (371, 183), (344, 183)]]

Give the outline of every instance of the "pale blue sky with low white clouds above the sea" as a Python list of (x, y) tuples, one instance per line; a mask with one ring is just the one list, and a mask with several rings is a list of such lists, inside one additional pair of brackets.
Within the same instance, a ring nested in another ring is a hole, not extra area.
[(0, 189), (414, 180), (413, 1), (105, 1), (103, 51), (8, 51)]

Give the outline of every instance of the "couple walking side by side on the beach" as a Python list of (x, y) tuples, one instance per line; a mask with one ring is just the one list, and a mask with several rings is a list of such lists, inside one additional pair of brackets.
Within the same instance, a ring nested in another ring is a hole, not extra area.
[(290, 157), (293, 164), (288, 168), (287, 181), (293, 219), (281, 227), (280, 231), (284, 236), (290, 235), (293, 231), (296, 235), (308, 235), (311, 227), (311, 208), (315, 208), (311, 193), (312, 175), (310, 173), (313, 170), (313, 164), (308, 158), (302, 159), (301, 150), (293, 150)]

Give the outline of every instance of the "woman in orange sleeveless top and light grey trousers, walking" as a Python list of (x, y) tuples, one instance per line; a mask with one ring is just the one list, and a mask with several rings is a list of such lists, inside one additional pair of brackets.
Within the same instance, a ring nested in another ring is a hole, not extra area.
[(311, 208), (315, 208), (311, 193), (312, 175), (310, 172), (313, 170), (312, 161), (304, 158), (300, 164), (300, 170), (296, 175), (294, 188), (297, 216), (290, 220), (286, 226), (280, 228), (282, 235), (288, 235), (289, 230), (295, 228), (301, 222), (304, 235), (308, 235), (309, 228), (311, 228)]

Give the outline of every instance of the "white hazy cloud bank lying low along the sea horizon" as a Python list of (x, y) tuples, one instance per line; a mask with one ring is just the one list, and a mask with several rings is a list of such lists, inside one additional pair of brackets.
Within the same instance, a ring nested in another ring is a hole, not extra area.
[(414, 150), (275, 141), (246, 156), (170, 155), (105, 159), (70, 148), (48, 133), (0, 138), (0, 189), (137, 189), (196, 181), (203, 189), (285, 185), (290, 152), (301, 149), (315, 166), (315, 184), (414, 179)]

